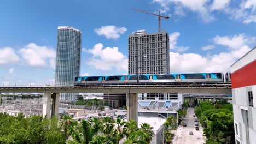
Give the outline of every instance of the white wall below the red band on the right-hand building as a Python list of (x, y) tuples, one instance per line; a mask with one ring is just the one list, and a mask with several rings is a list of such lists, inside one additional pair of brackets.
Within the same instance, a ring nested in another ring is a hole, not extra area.
[[(248, 105), (248, 91), (253, 92), (253, 107)], [(232, 97), (234, 101), (234, 124), (237, 124), (238, 132), (236, 134), (235, 129), (236, 140), (243, 144), (256, 143), (256, 85), (234, 88), (232, 89)], [(245, 115), (243, 115), (245, 111), (248, 113), (248, 124), (246, 124)]]

